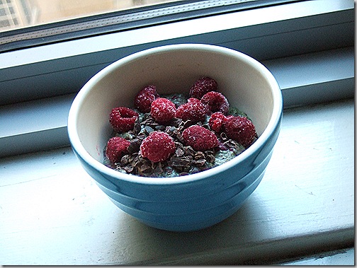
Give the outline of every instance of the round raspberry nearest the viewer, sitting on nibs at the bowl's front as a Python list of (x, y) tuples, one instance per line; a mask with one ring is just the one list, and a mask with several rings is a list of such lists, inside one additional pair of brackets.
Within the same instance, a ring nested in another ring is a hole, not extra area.
[(140, 151), (142, 157), (146, 157), (152, 162), (162, 162), (176, 151), (176, 145), (169, 134), (155, 131), (142, 141)]

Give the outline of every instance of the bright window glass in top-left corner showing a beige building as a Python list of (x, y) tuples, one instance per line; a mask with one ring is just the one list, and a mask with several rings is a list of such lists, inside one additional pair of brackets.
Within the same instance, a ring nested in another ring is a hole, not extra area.
[[(6, 0), (0, 1), (0, 32), (180, 0)], [(11, 23), (18, 18), (18, 25)]]

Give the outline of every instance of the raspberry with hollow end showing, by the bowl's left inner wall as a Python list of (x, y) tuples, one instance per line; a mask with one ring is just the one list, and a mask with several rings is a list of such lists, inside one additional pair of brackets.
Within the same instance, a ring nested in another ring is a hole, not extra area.
[(128, 132), (134, 128), (137, 117), (139, 114), (128, 107), (115, 107), (111, 111), (109, 122), (116, 132)]

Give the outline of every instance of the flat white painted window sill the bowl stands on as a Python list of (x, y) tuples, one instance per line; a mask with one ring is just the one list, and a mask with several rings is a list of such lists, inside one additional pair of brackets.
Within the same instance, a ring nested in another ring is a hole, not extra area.
[(120, 211), (70, 147), (1, 158), (1, 264), (274, 264), (353, 247), (353, 144), (352, 98), (285, 109), (259, 187), (194, 233)]

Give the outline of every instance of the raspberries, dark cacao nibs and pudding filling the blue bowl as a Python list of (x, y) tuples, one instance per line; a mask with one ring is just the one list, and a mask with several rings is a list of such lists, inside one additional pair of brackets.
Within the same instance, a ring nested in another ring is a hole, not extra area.
[(215, 79), (200, 78), (182, 94), (142, 88), (130, 107), (114, 107), (104, 164), (123, 173), (175, 177), (225, 163), (257, 139), (253, 122), (231, 107)]

